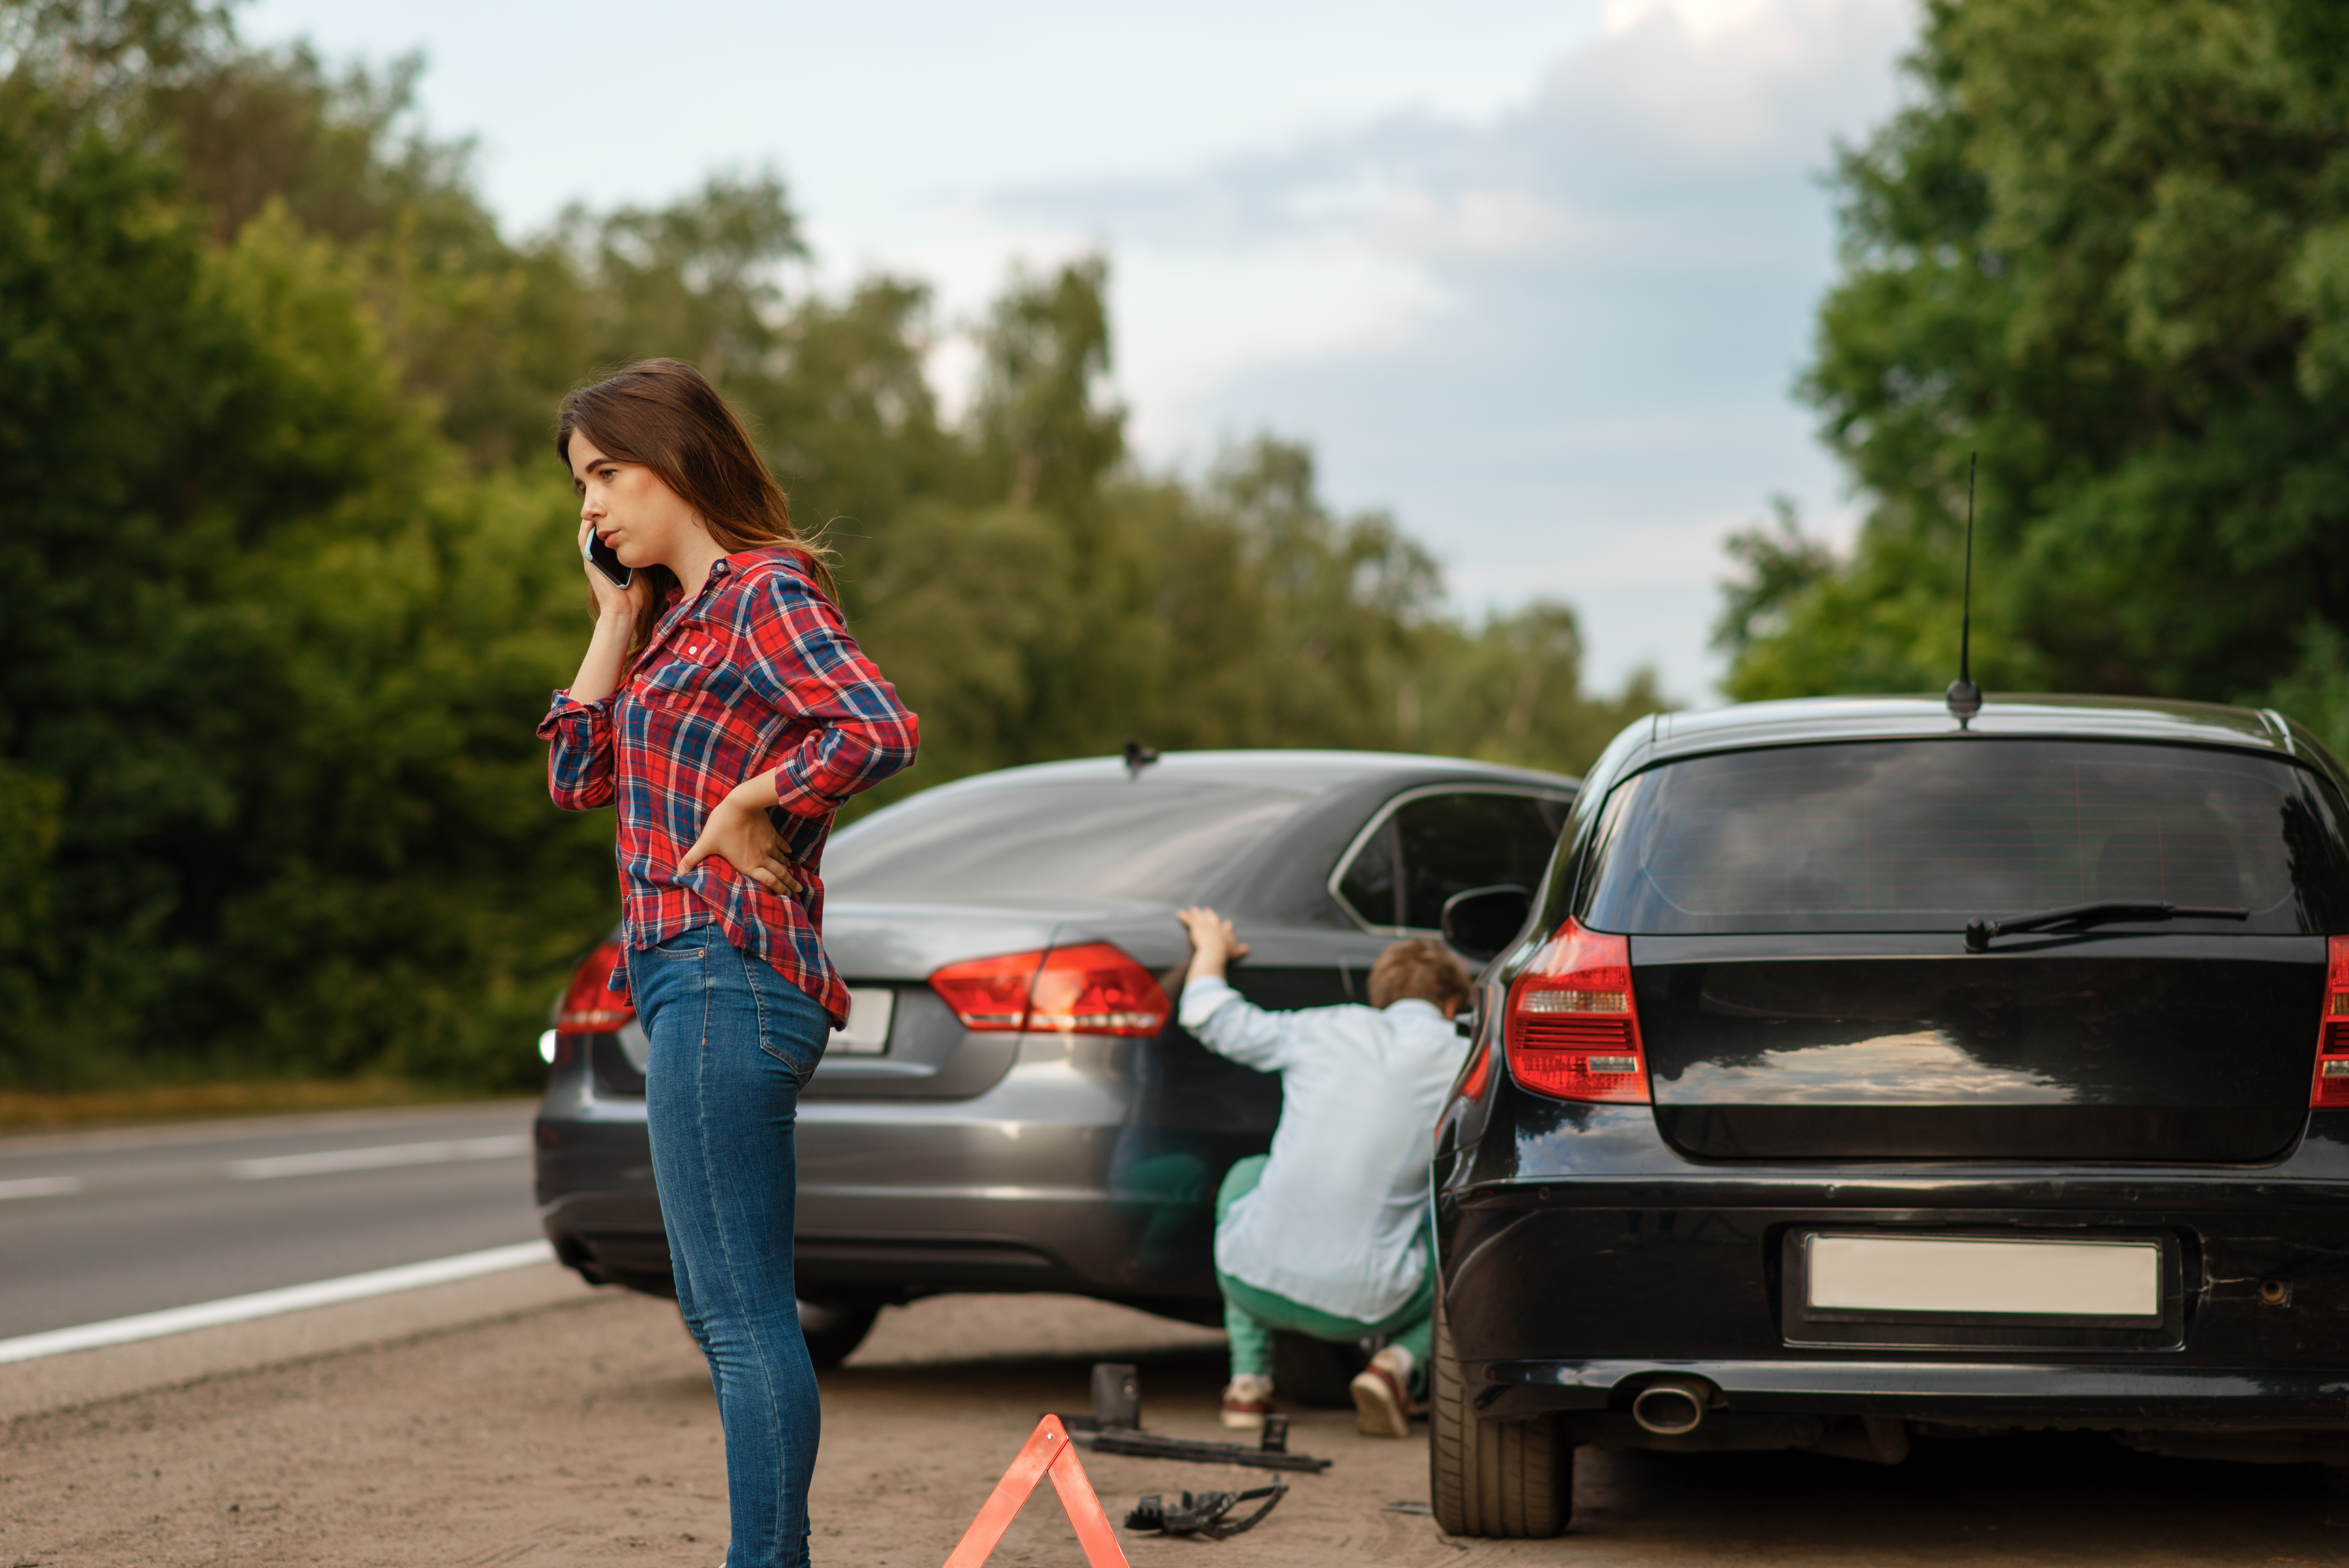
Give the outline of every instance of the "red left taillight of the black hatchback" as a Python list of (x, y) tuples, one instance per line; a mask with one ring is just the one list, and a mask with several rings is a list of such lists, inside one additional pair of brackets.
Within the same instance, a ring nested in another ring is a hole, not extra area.
[(1647, 1054), (1630, 1000), (1630, 941), (1574, 920), (1508, 988), (1508, 1073), (1564, 1101), (1647, 1103)]

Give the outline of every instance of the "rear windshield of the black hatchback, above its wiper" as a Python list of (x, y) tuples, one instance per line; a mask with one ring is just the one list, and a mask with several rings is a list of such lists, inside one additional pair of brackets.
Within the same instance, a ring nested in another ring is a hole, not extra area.
[[(2060, 904), (2248, 908), (2349, 930), (2330, 786), (2180, 746), (1950, 739), (1665, 763), (1614, 791), (1579, 915), (1602, 932), (1919, 932)], [(2187, 927), (2196, 930), (2196, 927)]]

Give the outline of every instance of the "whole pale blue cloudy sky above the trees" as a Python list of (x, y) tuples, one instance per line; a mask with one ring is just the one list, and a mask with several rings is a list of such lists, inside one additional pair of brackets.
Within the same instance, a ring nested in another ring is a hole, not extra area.
[(1705, 702), (1724, 533), (1853, 502), (1790, 397), (1818, 176), (1898, 101), (1912, 0), (256, 0), (256, 42), (420, 49), (512, 230), (775, 169), (820, 286), (940, 298), (933, 373), (1015, 263), (1102, 249), (1139, 455), (1301, 437), (1461, 606), (1583, 617), (1590, 678)]

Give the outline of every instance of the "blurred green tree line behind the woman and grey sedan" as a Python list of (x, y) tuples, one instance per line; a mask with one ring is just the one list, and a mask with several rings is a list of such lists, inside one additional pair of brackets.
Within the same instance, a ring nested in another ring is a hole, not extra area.
[(1579, 768), (1574, 613), (1468, 620), (1304, 444), (1125, 451), (1102, 261), (1015, 275), (968, 418), (918, 279), (803, 279), (770, 176), (510, 237), (413, 63), (195, 0), (0, 2), (0, 1087), (519, 1084), (613, 920), (531, 737), (576, 667), (559, 394), (646, 354), (752, 420), (923, 716), (890, 791), (1156, 746)]

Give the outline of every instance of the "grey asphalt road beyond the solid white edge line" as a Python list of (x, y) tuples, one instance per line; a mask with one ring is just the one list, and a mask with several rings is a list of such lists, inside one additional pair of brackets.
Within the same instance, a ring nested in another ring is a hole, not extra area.
[(531, 1242), (531, 1108), (0, 1138), (0, 1338)]

